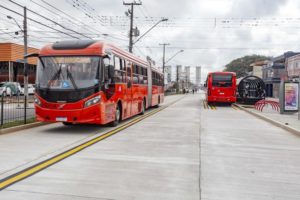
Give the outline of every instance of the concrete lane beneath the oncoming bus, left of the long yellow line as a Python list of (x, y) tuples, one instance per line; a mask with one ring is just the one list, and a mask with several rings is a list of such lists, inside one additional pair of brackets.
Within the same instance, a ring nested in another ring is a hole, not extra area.
[[(162, 105), (179, 98), (180, 95), (166, 97)], [(54, 123), (0, 135), (0, 179), (112, 129), (109, 126)]]

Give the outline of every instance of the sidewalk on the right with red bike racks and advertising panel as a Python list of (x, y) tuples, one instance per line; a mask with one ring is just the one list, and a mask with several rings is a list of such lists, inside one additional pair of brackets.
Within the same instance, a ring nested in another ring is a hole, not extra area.
[[(278, 99), (270, 99), (278, 101)], [(300, 135), (300, 120), (298, 120), (298, 113), (280, 114), (279, 111), (273, 110), (271, 105), (266, 105), (262, 112), (256, 110), (254, 106), (243, 104), (236, 104), (242, 110), (249, 112), (265, 121), (268, 121), (276, 126), (284, 128), (292, 133)]]

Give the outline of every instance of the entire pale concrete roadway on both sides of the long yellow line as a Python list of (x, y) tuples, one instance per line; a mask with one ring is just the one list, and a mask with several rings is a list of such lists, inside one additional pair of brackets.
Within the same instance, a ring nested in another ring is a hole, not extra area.
[[(0, 199), (300, 199), (300, 137), (229, 105), (206, 106), (203, 95), (183, 96)], [(55, 123), (2, 135), (0, 179), (113, 129)]]

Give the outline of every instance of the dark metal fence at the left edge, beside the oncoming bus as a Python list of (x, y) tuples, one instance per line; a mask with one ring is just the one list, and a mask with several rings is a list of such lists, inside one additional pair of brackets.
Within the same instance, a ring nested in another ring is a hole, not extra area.
[(1, 96), (0, 128), (26, 124), (35, 121), (34, 97)]

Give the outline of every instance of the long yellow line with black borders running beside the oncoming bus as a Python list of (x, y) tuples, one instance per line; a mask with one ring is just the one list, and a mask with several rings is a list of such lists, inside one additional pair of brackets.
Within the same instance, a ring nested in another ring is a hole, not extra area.
[(141, 117), (133, 119), (130, 122), (128, 122), (128, 123), (126, 123), (126, 124), (124, 124), (124, 125), (116, 128), (116, 129), (108, 131), (107, 133), (105, 133), (103, 135), (100, 135), (100, 136), (98, 136), (98, 137), (96, 137), (94, 139), (91, 139), (91, 140), (89, 140), (87, 142), (84, 142), (84, 143), (82, 143), (82, 144), (80, 144), (80, 145), (78, 145), (78, 146), (76, 146), (76, 147), (74, 147), (72, 149), (69, 149), (69, 150), (67, 150), (67, 151), (65, 151), (65, 152), (63, 152), (61, 154), (55, 155), (52, 158), (49, 158), (49, 159), (47, 159), (45, 161), (41, 161), (41, 162), (39, 162), (36, 165), (28, 167), (28, 168), (26, 168), (26, 169), (24, 169), (24, 170), (22, 170), (20, 172), (17, 172), (17, 173), (15, 173), (15, 174), (13, 174), (13, 175), (11, 175), (9, 177), (6, 177), (6, 178), (0, 180), (0, 191), (3, 190), (6, 187), (8, 187), (8, 186), (10, 186), (10, 185), (18, 182), (18, 181), (21, 181), (21, 180), (23, 180), (23, 179), (25, 179), (25, 178), (27, 178), (27, 177), (29, 177), (31, 175), (34, 175), (35, 173), (38, 173), (38, 172), (46, 169), (47, 167), (50, 167), (51, 165), (53, 165), (53, 164), (55, 164), (55, 163), (57, 163), (57, 162), (65, 159), (67, 157), (70, 157), (70, 156), (78, 153), (79, 151), (82, 151), (83, 149), (85, 149), (85, 148), (87, 148), (87, 147), (89, 147), (91, 145), (94, 145), (95, 143), (97, 143), (97, 142), (99, 142), (101, 140), (104, 140), (104, 139), (106, 139), (106, 138), (108, 138), (108, 137), (110, 137), (110, 136), (112, 136), (112, 135), (114, 135), (114, 134), (116, 134), (116, 133), (118, 133), (118, 132), (120, 132), (120, 131), (122, 131), (122, 130), (124, 130), (124, 129), (132, 126), (132, 125), (134, 125), (134, 124), (136, 124), (136, 123), (138, 123), (139, 121), (141, 121), (141, 120), (143, 120), (143, 119), (145, 119), (147, 117), (150, 117), (151, 115), (154, 115), (155, 113), (157, 113), (159, 111), (162, 111), (163, 109), (165, 109), (165, 108), (173, 105), (174, 103), (180, 101), (181, 99), (182, 98), (180, 98), (180, 99), (178, 99), (178, 100), (170, 103), (169, 105), (163, 106), (163, 107), (161, 107), (159, 109), (156, 109), (154, 111), (151, 111), (150, 113), (147, 113), (147, 114), (145, 114), (145, 115), (143, 115)]

